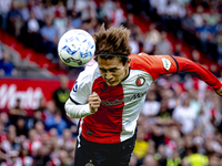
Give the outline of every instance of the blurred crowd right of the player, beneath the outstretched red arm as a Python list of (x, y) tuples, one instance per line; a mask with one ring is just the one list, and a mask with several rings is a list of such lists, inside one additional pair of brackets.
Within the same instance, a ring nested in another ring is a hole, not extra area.
[(221, 166), (222, 105), (205, 84), (176, 75), (149, 89), (138, 120), (138, 138), (130, 166)]

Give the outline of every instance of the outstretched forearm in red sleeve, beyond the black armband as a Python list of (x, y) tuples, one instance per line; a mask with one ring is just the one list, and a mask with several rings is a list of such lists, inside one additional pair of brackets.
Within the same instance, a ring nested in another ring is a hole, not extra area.
[(171, 58), (174, 59), (176, 63), (178, 72), (185, 72), (204, 81), (215, 91), (216, 94), (222, 96), (222, 83), (209, 70), (185, 58), (180, 58), (180, 56), (171, 56)]

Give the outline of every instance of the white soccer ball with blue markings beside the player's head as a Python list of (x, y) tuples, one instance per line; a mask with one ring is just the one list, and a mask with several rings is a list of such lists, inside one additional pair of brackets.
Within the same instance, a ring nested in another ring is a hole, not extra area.
[(70, 66), (88, 63), (94, 55), (95, 44), (92, 35), (84, 30), (67, 31), (59, 40), (58, 54)]

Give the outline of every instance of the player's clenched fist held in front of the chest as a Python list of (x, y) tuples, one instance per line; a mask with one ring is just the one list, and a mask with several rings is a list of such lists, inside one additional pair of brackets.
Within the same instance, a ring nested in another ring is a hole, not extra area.
[(98, 111), (98, 107), (100, 107), (100, 103), (101, 103), (100, 96), (95, 92), (93, 92), (89, 96), (88, 102), (90, 104), (91, 113), (95, 113)]

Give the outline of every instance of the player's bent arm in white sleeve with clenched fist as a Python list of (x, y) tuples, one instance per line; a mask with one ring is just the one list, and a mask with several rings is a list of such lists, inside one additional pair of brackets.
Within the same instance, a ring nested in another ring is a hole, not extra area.
[(93, 69), (95, 68), (97, 66), (85, 68), (77, 79), (70, 93), (70, 98), (64, 105), (69, 117), (81, 118), (98, 111), (101, 103), (100, 96), (95, 92), (91, 93)]

